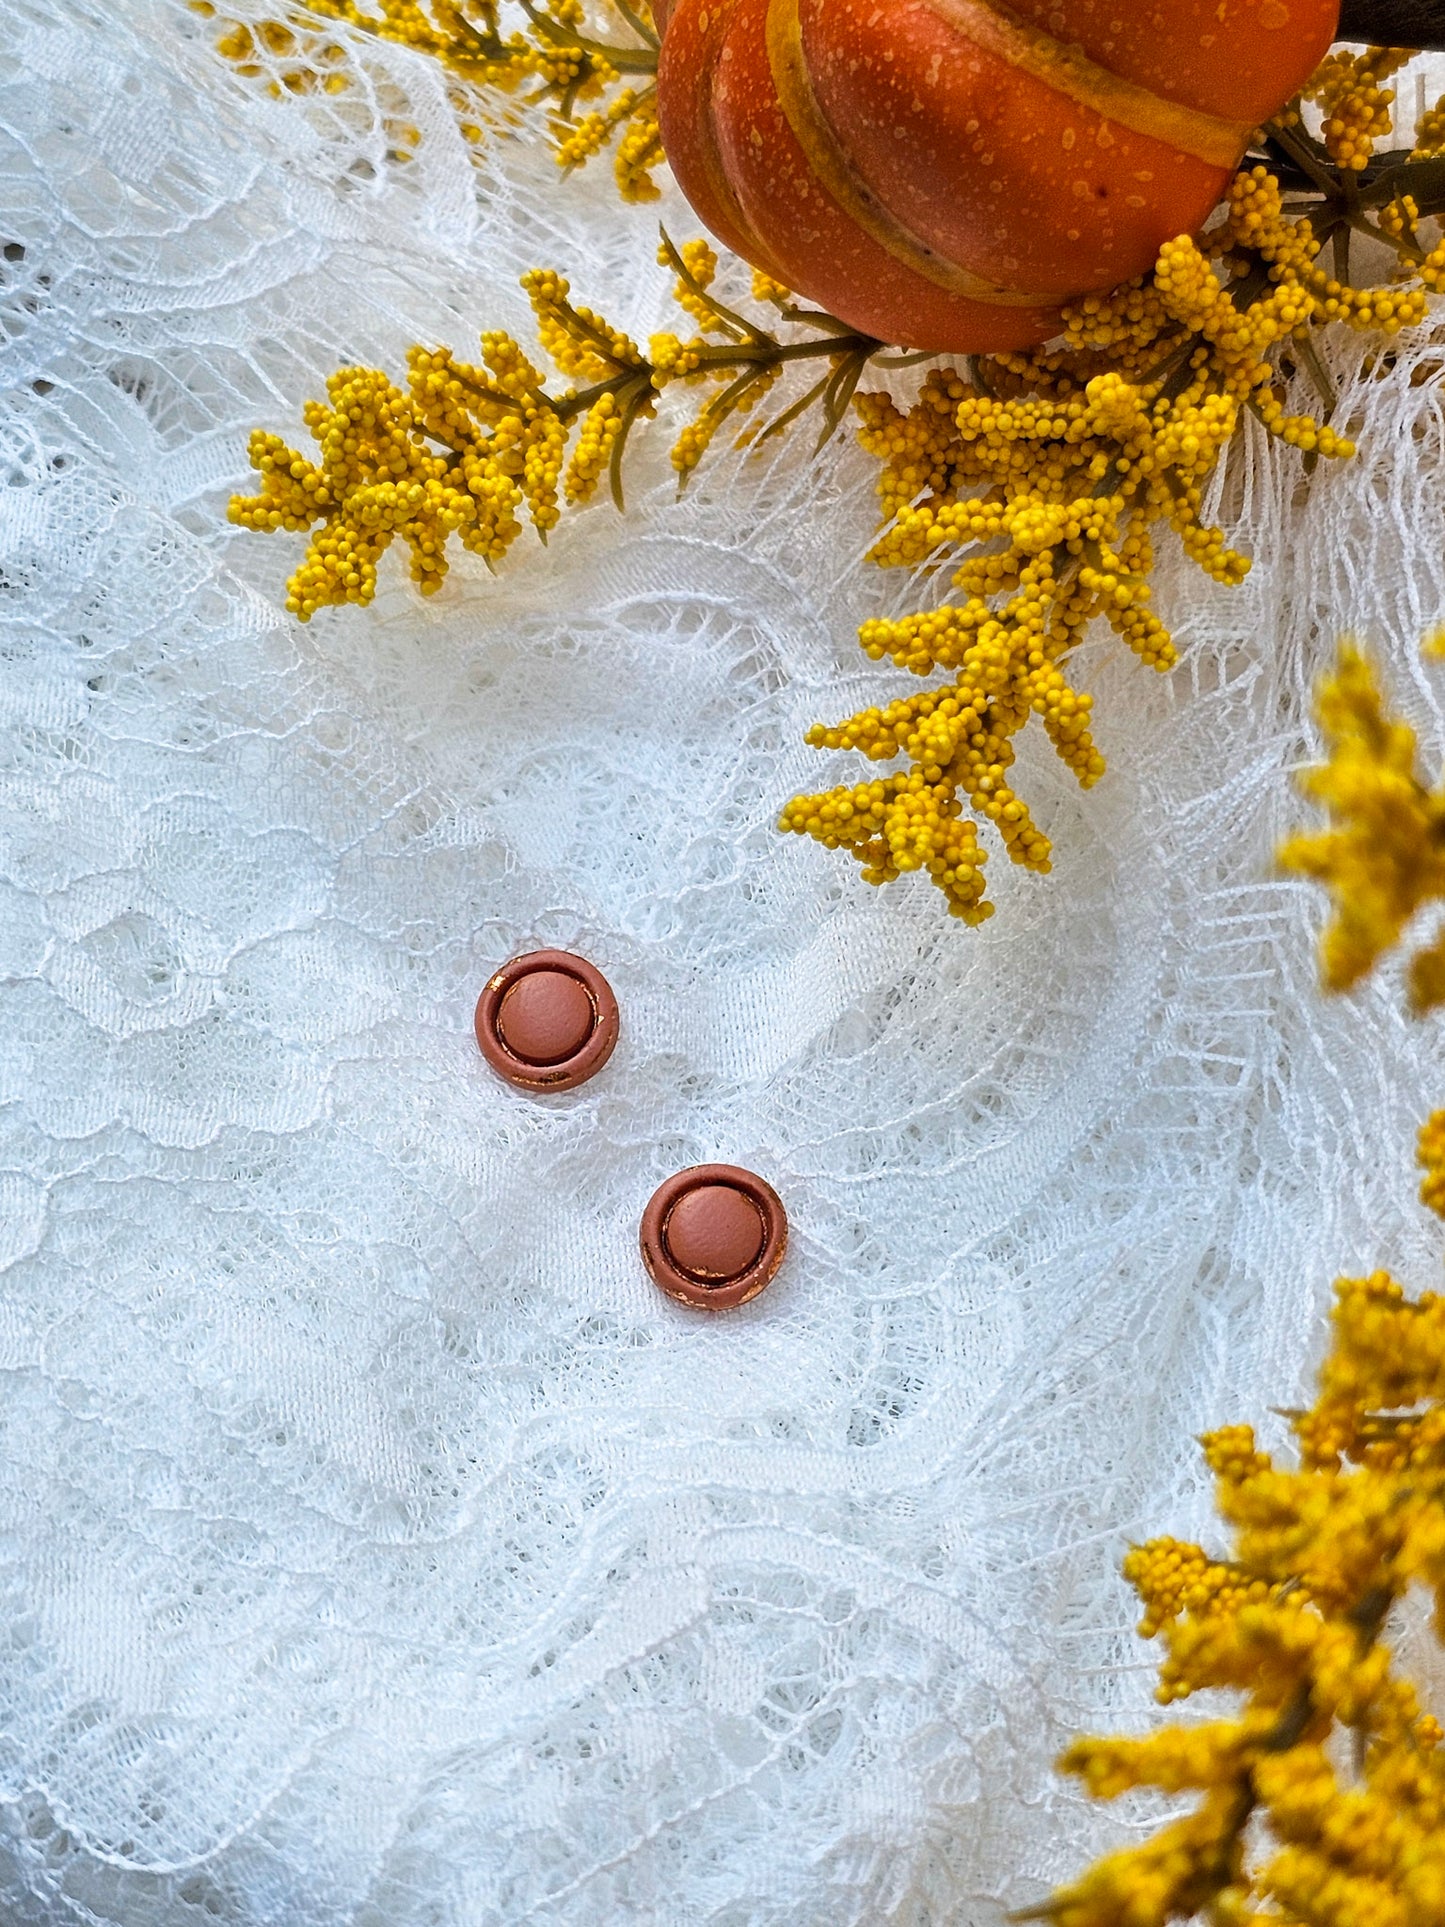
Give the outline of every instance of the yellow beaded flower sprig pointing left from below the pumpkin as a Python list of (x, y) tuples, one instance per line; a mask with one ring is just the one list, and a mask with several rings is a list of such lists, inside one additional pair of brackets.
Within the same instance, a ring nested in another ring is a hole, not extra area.
[[(522, 276), (538, 339), (574, 383), (561, 395), (547, 391), (543, 374), (511, 335), (484, 333), (478, 366), (445, 347), (410, 349), (405, 391), (380, 368), (333, 374), (326, 403), (312, 401), (304, 410), (316, 461), (256, 430), (250, 466), (262, 488), (233, 497), (229, 515), (241, 528), (312, 532), (287, 584), (287, 609), (308, 622), (324, 607), (368, 603), (378, 563), (397, 536), (410, 551), (412, 580), (430, 595), (447, 574), (453, 536), (493, 565), (522, 532), (522, 511), (545, 538), (561, 518), (561, 503), (588, 503), (603, 474), (620, 507), (628, 432), (674, 383), (713, 389), (672, 447), (680, 482), (717, 430), (751, 409), (792, 360), (823, 360), (827, 374), (782, 422), (813, 401), (828, 426), (836, 422), (852, 395), (848, 382), (880, 343), (840, 335), (832, 324), (782, 343), (709, 293), (717, 254), (705, 241), (678, 251), (663, 237), (659, 260), (672, 268), (676, 299), (701, 331), (688, 341), (653, 335), (647, 355), (605, 316), (578, 306), (551, 268)], [(792, 306), (784, 312), (805, 320)]]

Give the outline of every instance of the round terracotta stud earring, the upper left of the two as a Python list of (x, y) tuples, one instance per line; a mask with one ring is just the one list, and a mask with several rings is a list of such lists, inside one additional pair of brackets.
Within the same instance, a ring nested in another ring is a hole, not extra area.
[(566, 950), (532, 950), (491, 977), (476, 1004), (482, 1056), (520, 1091), (570, 1091), (617, 1044), (617, 998), (601, 971)]

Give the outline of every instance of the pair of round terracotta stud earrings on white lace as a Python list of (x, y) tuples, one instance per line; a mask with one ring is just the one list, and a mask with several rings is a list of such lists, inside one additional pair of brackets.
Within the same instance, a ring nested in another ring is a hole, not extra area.
[[(595, 964), (568, 950), (530, 950), (487, 981), (476, 1041), (516, 1091), (574, 1091), (611, 1058), (617, 996)], [(782, 1199), (736, 1164), (694, 1164), (659, 1185), (642, 1214), (642, 1262), (670, 1299), (730, 1310), (755, 1299), (788, 1249)]]

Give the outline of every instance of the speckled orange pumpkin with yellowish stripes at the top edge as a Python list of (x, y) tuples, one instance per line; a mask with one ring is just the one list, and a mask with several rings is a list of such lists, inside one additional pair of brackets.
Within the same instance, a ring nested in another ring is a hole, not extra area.
[(1152, 266), (1339, 0), (653, 0), (682, 193), (852, 328), (990, 353)]

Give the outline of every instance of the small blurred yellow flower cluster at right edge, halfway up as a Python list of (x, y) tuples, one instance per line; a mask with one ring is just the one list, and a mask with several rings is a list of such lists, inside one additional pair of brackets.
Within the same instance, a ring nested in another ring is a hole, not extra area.
[[(1422, 779), (1414, 730), (1385, 715), (1376, 671), (1351, 644), (1320, 684), (1318, 717), (1327, 759), (1300, 788), (1331, 827), (1291, 836), (1279, 863), (1329, 888), (1322, 977), (1349, 990), (1424, 904), (1445, 898), (1445, 786)], [(1412, 958), (1408, 989), (1420, 1012), (1445, 1002), (1445, 929)]]

